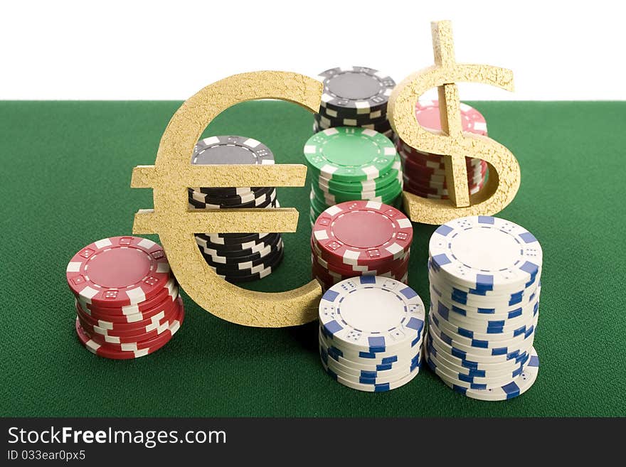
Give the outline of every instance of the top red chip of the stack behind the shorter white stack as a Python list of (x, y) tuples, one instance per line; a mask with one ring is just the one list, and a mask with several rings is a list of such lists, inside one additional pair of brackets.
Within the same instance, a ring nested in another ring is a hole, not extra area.
[(408, 251), (413, 225), (390, 205), (348, 201), (319, 215), (312, 228), (312, 240), (338, 264), (376, 269)]

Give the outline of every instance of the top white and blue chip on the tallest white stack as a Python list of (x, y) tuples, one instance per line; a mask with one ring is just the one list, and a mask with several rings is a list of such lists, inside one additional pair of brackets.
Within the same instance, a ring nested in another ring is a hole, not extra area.
[(448, 281), (485, 292), (519, 291), (541, 274), (541, 245), (520, 225), (479, 215), (447, 222), (428, 245), (431, 267)]

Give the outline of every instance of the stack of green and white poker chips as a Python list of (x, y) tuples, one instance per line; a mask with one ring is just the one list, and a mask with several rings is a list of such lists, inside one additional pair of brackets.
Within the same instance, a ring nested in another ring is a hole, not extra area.
[(304, 145), (304, 157), (311, 172), (311, 223), (329, 206), (346, 201), (401, 201), (400, 156), (393, 142), (373, 129), (320, 131)]

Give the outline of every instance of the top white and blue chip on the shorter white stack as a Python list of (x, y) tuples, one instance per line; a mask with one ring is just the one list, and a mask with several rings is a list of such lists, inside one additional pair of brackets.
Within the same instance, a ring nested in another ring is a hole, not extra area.
[(366, 353), (410, 349), (422, 338), (426, 311), (420, 296), (400, 281), (361, 276), (341, 281), (319, 302), (319, 325), (343, 348)]

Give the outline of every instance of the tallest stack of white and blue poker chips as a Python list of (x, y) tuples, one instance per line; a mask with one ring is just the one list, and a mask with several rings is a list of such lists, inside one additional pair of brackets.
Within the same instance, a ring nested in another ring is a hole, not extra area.
[(534, 235), (508, 220), (460, 218), (435, 230), (427, 361), (453, 390), (504, 400), (534, 384), (541, 258)]

